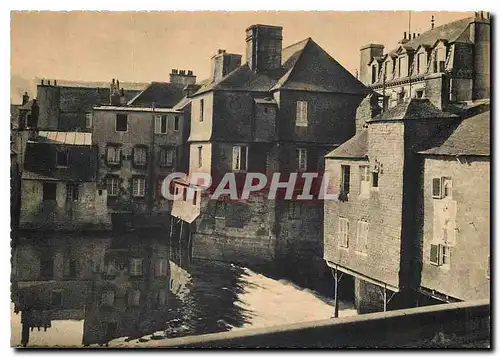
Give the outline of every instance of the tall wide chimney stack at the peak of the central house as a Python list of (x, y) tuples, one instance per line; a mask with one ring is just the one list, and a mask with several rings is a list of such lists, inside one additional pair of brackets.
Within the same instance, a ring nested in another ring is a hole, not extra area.
[(252, 71), (267, 71), (281, 67), (283, 28), (252, 25), (246, 29), (246, 61)]

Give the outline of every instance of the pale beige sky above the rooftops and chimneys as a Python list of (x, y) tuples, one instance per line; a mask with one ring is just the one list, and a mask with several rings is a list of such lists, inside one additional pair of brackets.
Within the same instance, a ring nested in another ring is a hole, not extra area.
[[(412, 12), (411, 32), (471, 16)], [(388, 49), (408, 31), (408, 12), (12, 12), (11, 75), (65, 80), (168, 81), (172, 68), (199, 80), (217, 49), (245, 55), (245, 29), (283, 26), (283, 47), (311, 37), (355, 73), (359, 48)], [(243, 57), (244, 58), (244, 57)], [(34, 93), (32, 93), (33, 95)], [(15, 100), (15, 98), (13, 98)]]

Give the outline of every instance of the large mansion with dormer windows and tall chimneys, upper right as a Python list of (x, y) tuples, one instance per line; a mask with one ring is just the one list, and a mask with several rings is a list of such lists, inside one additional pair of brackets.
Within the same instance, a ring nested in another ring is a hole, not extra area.
[(385, 108), (427, 98), (438, 108), (490, 97), (490, 14), (476, 12), (422, 34), (404, 33), (399, 46), (360, 49), (359, 78)]

